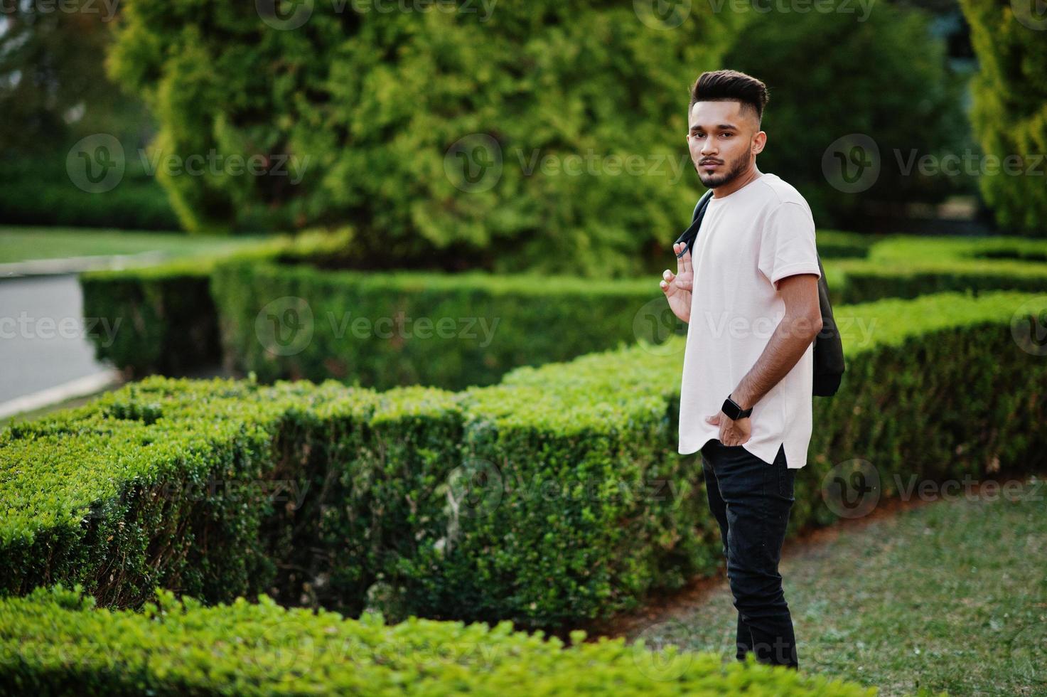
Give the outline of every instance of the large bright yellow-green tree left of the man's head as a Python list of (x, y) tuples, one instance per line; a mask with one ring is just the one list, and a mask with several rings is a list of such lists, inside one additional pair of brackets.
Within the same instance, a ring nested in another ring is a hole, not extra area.
[(110, 67), (155, 111), (156, 162), (287, 157), (161, 167), (191, 231), (348, 223), (372, 265), (618, 275), (686, 222), (688, 88), (741, 21), (643, 4), (126, 0)]

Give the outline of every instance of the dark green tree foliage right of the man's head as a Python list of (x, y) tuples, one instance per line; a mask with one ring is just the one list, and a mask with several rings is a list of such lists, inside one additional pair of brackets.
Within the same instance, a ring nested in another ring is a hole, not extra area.
[[(926, 14), (888, 3), (869, 8), (830, 2), (787, 17), (751, 13), (723, 61), (766, 83), (767, 144), (757, 162), (803, 193), (819, 225), (851, 227), (890, 205), (974, 189), (970, 177), (904, 171), (912, 152), (940, 156), (973, 145), (960, 106), (963, 81), (948, 67), (944, 42)], [(851, 133), (875, 141), (881, 166), (875, 183), (853, 194), (823, 171), (826, 149)], [(876, 205), (862, 208), (870, 200)]]

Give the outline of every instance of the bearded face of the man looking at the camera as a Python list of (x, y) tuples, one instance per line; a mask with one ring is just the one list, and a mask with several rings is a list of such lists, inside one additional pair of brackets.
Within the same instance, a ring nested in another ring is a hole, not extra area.
[(730, 183), (755, 161), (766, 134), (741, 102), (697, 102), (688, 119), (687, 144), (707, 189)]

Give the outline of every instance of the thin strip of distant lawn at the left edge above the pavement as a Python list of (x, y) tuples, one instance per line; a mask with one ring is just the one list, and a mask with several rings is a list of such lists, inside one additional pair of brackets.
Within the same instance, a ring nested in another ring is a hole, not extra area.
[(87, 227), (0, 225), (0, 264), (29, 259), (125, 255), (160, 251), (172, 258), (222, 255), (268, 239), (265, 236), (204, 237)]

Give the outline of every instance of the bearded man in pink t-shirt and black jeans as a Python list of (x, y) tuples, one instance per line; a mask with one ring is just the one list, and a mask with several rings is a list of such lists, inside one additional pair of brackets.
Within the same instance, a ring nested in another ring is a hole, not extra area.
[(766, 86), (735, 70), (691, 88), (687, 143), (713, 190), (691, 249), (661, 281), (688, 323), (680, 453), (701, 452), (738, 610), (737, 654), (798, 668), (778, 562), (811, 432), (814, 339), (822, 328), (815, 222), (804, 198), (756, 168)]

